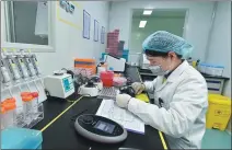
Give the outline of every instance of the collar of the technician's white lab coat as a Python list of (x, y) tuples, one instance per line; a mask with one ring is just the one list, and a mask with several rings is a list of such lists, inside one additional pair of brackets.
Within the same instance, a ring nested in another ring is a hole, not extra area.
[(167, 82), (174, 82), (185, 69), (189, 67), (187, 60), (184, 60), (166, 79)]

